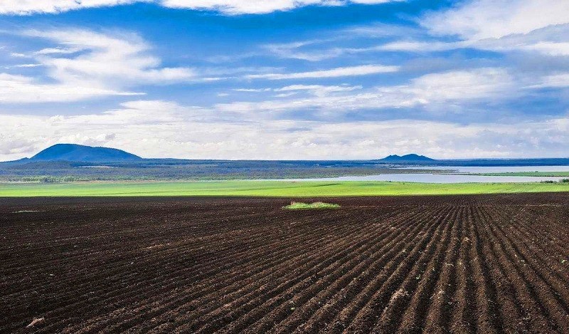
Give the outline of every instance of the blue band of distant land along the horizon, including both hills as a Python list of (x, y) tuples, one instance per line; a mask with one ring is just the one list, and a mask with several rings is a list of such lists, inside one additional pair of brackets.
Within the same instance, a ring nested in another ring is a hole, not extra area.
[[(368, 168), (384, 165), (385, 167), (397, 166), (441, 166), (441, 167), (504, 167), (504, 166), (569, 166), (569, 158), (530, 158), (530, 159), (468, 159), (468, 160), (435, 160), (424, 155), (390, 155), (381, 160), (186, 160), (186, 159), (143, 159), (129, 152), (109, 147), (90, 147), (75, 144), (58, 144), (48, 147), (31, 158), (0, 162), (0, 178), (2, 174), (9, 174), (6, 170), (20, 170), (21, 175), (25, 175), (24, 170), (39, 174), (47, 170), (56, 170), (60, 174), (69, 174), (69, 170), (78, 170), (76, 167), (106, 166), (121, 167), (117, 169), (119, 173), (123, 168), (139, 169), (140, 174), (144, 170), (160, 168), (164, 172), (164, 167), (188, 167), (200, 165), (205, 174), (227, 174), (236, 170), (244, 175), (251, 170), (275, 170), (283, 168), (323, 168), (334, 167), (344, 168), (349, 174), (350, 168)], [(223, 166), (223, 167), (220, 167)], [(193, 167), (192, 167), (193, 168)], [(224, 169), (225, 168), (225, 169)], [(87, 170), (86, 168), (83, 168)], [(214, 170), (215, 169), (215, 170)], [(218, 170), (219, 169), (219, 170)], [(99, 169), (94, 169), (100, 171)], [(175, 174), (173, 169), (170, 174)], [(105, 173), (111, 173), (108, 170)], [(166, 172), (164, 172), (166, 173)], [(19, 175), (18, 174), (18, 175)], [(275, 172), (277, 174), (277, 172)]]

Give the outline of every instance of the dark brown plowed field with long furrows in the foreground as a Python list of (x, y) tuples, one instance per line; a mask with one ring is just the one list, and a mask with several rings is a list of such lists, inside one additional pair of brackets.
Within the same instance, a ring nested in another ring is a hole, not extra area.
[(0, 332), (569, 333), (567, 194), (288, 202), (0, 199)]

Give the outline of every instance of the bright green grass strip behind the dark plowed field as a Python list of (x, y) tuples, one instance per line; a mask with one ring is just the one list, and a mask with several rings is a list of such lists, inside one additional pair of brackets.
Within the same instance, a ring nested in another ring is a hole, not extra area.
[(412, 182), (76, 182), (58, 184), (0, 184), (0, 197), (79, 196), (263, 196), (334, 197), (410, 194), (496, 194), (569, 192), (567, 183)]

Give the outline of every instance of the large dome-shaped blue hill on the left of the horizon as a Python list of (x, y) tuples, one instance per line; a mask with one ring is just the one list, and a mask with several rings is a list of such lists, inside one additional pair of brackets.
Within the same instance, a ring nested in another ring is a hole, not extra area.
[(141, 157), (110, 147), (91, 147), (76, 144), (56, 144), (31, 157), (28, 162), (77, 161), (77, 162), (129, 162)]

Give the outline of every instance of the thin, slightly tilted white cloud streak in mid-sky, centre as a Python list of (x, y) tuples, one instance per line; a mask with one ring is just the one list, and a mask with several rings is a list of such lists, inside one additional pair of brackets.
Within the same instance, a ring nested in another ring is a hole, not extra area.
[(344, 76), (370, 75), (377, 73), (393, 73), (399, 71), (399, 66), (363, 65), (332, 68), (331, 70), (300, 72), (300, 73), (267, 73), (245, 75), (246, 79), (304, 79), (304, 78), (339, 78)]

